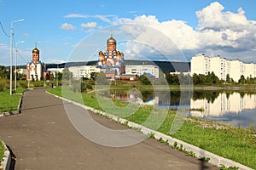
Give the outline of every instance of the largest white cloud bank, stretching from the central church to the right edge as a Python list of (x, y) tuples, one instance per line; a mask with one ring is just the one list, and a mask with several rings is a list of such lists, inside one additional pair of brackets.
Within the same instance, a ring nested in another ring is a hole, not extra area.
[[(116, 18), (113, 20), (113, 25), (131, 24), (123, 28), (126, 35), (130, 34), (135, 40), (144, 38), (152, 47), (161, 51), (170, 52), (171, 49), (168, 47), (169, 44), (161, 41), (163, 37), (159, 36), (160, 33), (147, 33), (140, 26), (148, 26), (160, 31), (175, 42), (177, 48), (188, 54), (215, 50), (218, 54), (242, 55), (246, 52), (249, 56), (255, 55), (253, 49), (256, 47), (256, 21), (247, 20), (242, 8), (238, 8), (237, 12), (233, 13), (224, 11), (224, 6), (215, 2), (195, 14), (199, 23), (196, 29), (183, 20), (159, 21), (156, 16), (145, 14), (134, 19)], [(141, 47), (139, 51), (139, 47), (131, 47), (127, 52), (131, 55), (146, 53), (145, 48)]]

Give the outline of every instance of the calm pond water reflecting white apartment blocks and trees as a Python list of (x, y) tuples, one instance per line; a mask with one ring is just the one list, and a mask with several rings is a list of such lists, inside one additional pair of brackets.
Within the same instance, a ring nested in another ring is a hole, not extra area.
[(140, 105), (201, 109), (189, 111), (189, 115), (235, 127), (249, 127), (253, 123), (256, 129), (256, 92), (171, 91), (169, 94), (165, 91), (141, 91), (140, 94), (112, 90), (111, 97), (135, 101)]

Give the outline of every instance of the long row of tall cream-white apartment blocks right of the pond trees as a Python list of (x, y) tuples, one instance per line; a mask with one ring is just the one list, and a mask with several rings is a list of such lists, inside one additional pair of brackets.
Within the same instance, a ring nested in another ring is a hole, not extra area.
[(238, 82), (243, 75), (247, 77), (256, 77), (256, 64), (245, 64), (239, 59), (228, 60), (225, 58), (207, 57), (204, 54), (197, 55), (191, 59), (191, 75), (203, 74), (207, 75), (208, 72), (214, 74), (221, 80), (226, 80), (227, 75), (230, 75), (235, 82)]

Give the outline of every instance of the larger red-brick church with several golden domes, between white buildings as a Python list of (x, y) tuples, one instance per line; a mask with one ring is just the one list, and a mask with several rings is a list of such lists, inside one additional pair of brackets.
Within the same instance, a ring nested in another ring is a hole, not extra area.
[(117, 42), (111, 37), (107, 40), (107, 50), (105, 52), (99, 52), (99, 59), (97, 67), (106, 74), (106, 77), (110, 80), (118, 78), (125, 72), (125, 59), (124, 53), (117, 51)]

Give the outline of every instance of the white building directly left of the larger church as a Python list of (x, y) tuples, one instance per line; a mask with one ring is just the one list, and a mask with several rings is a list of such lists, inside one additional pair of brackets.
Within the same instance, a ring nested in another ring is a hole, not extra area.
[(73, 73), (73, 77), (77, 80), (81, 78), (90, 78), (90, 73), (100, 72), (100, 68), (96, 68), (96, 65), (83, 65), (83, 66), (71, 66), (68, 70)]

